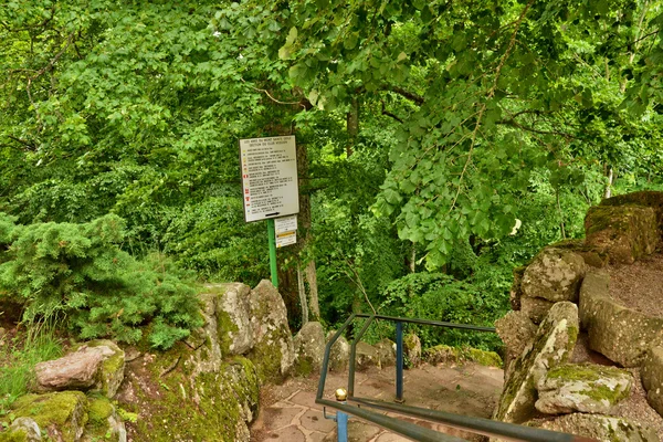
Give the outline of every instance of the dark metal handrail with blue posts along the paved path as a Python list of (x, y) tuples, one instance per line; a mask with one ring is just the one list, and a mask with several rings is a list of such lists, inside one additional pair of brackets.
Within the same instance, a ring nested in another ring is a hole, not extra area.
[[(357, 406), (349, 406), (347, 402), (338, 402), (324, 399), (325, 383), (327, 380), (327, 371), (329, 369), (329, 355), (332, 352), (332, 347), (338, 340), (340, 335), (350, 326), (350, 324), (357, 318), (366, 318), (367, 320), (362, 325), (359, 333), (355, 335), (355, 339), (352, 340), (350, 347), (350, 362), (349, 362), (349, 372), (348, 372), (348, 398), (347, 400), (350, 402), (357, 403)], [(346, 413), (350, 415), (355, 415), (359, 419), (372, 422), (379, 427), (382, 427), (387, 430), (390, 430), (394, 433), (398, 433), (402, 436), (412, 439), (414, 441), (430, 441), (430, 442), (455, 442), (463, 441), (463, 439), (459, 439), (455, 436), (451, 436), (449, 434), (440, 433), (410, 422), (400, 421), (398, 419), (388, 418), (385, 414), (377, 413), (373, 411), (369, 411), (360, 408), (361, 406), (373, 408), (377, 410), (385, 410), (390, 412), (396, 412), (399, 414), (412, 415), (417, 418), (422, 418), (429, 421), (440, 422), (446, 427), (456, 428), (460, 430), (473, 432), (476, 434), (483, 434), (492, 438), (499, 438), (502, 440), (508, 441), (517, 441), (517, 442), (598, 442), (596, 439), (588, 439), (583, 436), (578, 436), (568, 433), (560, 433), (550, 430), (541, 430), (535, 429), (524, 425), (517, 425), (514, 423), (493, 421), (490, 419), (461, 415), (454, 413), (448, 413), (438, 410), (429, 410), (419, 407), (409, 407), (400, 403), (390, 403), (376, 399), (369, 398), (356, 398), (354, 397), (354, 388), (355, 388), (355, 359), (356, 359), (356, 348), (357, 343), (367, 332), (368, 327), (372, 324), (375, 319), (383, 319), (397, 323), (397, 335), (402, 334), (402, 323), (409, 324), (419, 324), (419, 325), (432, 325), (438, 327), (445, 328), (459, 328), (459, 329), (467, 329), (475, 332), (488, 332), (495, 333), (495, 328), (493, 327), (484, 327), (484, 326), (474, 326), (469, 324), (454, 324), (454, 323), (445, 323), (440, 320), (431, 320), (431, 319), (419, 319), (419, 318), (403, 318), (396, 316), (386, 316), (386, 315), (367, 315), (367, 314), (351, 314), (350, 317), (343, 324), (343, 326), (334, 334), (332, 339), (325, 346), (325, 356), (323, 359), (323, 367), (320, 369), (320, 379), (318, 382), (318, 389), (315, 402), (319, 403), (324, 407), (329, 407), (337, 410), (337, 413)], [(400, 324), (400, 326), (399, 326)], [(397, 346), (402, 346), (402, 336), (397, 336)], [(402, 355), (402, 348), (397, 348), (397, 355)], [(399, 359), (397, 357), (397, 359)], [(397, 394), (396, 399), (402, 399), (402, 356), (399, 359), (400, 367), (397, 362)], [(400, 391), (399, 391), (399, 378), (400, 378)]]

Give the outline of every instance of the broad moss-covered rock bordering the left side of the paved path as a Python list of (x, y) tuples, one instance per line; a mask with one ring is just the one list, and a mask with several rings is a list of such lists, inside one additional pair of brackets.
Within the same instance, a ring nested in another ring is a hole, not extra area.
[[(117, 396), (135, 441), (249, 441), (257, 412), (260, 381), (251, 360), (234, 357), (209, 371), (194, 368), (198, 354), (177, 344), (160, 355), (127, 364)], [(173, 364), (177, 361), (176, 364)]]

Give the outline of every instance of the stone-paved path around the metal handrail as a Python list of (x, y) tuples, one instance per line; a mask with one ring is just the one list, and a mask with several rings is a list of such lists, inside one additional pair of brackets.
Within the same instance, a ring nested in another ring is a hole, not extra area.
[[(295, 378), (282, 386), (263, 389), (261, 413), (251, 429), (252, 441), (319, 442), (336, 441), (336, 424), (323, 417), (315, 403), (318, 377)], [(394, 370), (371, 368), (356, 376), (356, 396), (391, 400), (394, 394)], [(347, 386), (346, 373), (329, 373), (325, 397)], [(474, 364), (463, 366), (424, 365), (406, 370), (406, 404), (490, 418), (503, 386), (503, 371)], [(409, 419), (427, 428), (470, 439), (469, 433), (444, 425)], [(378, 427), (350, 419), (349, 439), (356, 442), (406, 441)]]

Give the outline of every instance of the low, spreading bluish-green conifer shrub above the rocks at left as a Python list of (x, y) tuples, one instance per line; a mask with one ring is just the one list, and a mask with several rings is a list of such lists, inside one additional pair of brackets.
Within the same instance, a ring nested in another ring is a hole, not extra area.
[(113, 337), (169, 348), (201, 324), (196, 290), (162, 256), (136, 261), (119, 249), (124, 221), (15, 225), (0, 287), (25, 303), (24, 319), (64, 313), (84, 339)]

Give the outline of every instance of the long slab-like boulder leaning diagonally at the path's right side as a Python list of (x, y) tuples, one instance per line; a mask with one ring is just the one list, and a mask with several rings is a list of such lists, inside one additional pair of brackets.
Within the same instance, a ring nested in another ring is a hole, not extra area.
[(520, 423), (532, 417), (535, 386), (549, 369), (567, 361), (576, 345), (578, 329), (576, 304), (560, 302), (550, 308), (533, 341), (513, 362), (513, 373), (504, 386), (495, 419)]

